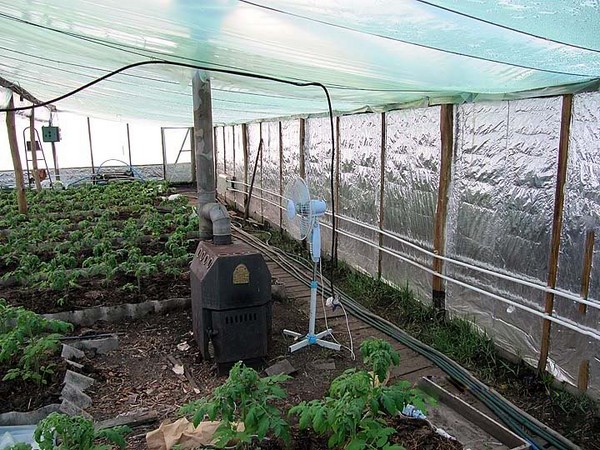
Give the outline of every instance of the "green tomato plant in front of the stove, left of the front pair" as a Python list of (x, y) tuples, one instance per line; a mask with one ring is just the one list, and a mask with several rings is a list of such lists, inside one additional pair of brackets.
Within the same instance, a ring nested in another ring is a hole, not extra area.
[[(289, 441), (289, 425), (272, 403), (286, 397), (279, 386), (288, 380), (287, 375), (260, 377), (241, 362), (229, 372), (227, 381), (216, 388), (212, 396), (181, 408), (181, 413), (192, 417), (194, 426), (208, 418), (219, 419), (215, 432), (215, 445), (224, 447), (230, 441), (248, 445), (254, 438), (264, 439), (267, 434)], [(238, 429), (243, 424), (243, 430)]]

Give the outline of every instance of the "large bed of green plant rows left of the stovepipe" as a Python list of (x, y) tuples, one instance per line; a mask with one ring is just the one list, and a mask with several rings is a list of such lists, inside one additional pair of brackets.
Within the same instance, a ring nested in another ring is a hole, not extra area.
[(185, 291), (198, 218), (186, 197), (165, 197), (165, 184), (29, 191), (27, 216), (14, 195), (0, 191), (0, 287), (9, 303), (51, 312), (153, 299), (143, 292), (153, 284), (157, 295), (173, 284)]

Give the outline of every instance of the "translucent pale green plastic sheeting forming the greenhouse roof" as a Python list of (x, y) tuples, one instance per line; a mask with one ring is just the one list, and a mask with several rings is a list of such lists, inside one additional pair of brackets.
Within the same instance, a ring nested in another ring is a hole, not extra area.
[[(598, 88), (600, 6), (529, 0), (12, 0), (0, 76), (48, 100), (168, 59), (318, 81), (340, 112)], [(193, 70), (149, 66), (56, 106), (190, 125)], [(326, 111), (323, 92), (209, 72), (216, 123)]]

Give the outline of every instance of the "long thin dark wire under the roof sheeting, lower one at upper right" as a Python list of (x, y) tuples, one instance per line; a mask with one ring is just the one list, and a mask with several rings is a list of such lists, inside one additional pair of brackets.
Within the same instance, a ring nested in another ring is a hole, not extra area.
[(561, 71), (561, 70), (543, 69), (543, 68), (539, 68), (539, 67), (526, 66), (526, 65), (523, 65), (523, 64), (511, 63), (511, 62), (506, 62), (506, 61), (499, 61), (497, 59), (486, 58), (484, 56), (468, 55), (466, 53), (461, 53), (461, 52), (454, 51), (454, 50), (447, 50), (447, 49), (443, 49), (443, 48), (439, 48), (439, 47), (434, 47), (432, 45), (427, 45), (427, 44), (421, 44), (421, 43), (417, 43), (417, 42), (407, 41), (407, 40), (404, 40), (404, 39), (399, 39), (399, 38), (395, 38), (395, 37), (392, 37), (392, 36), (387, 36), (385, 34), (370, 33), (368, 31), (357, 30), (355, 28), (352, 28), (352, 27), (349, 27), (349, 26), (346, 26), (346, 25), (340, 25), (340, 24), (337, 24), (337, 23), (327, 22), (326, 20), (321, 20), (321, 19), (316, 19), (316, 18), (313, 18), (313, 17), (303, 16), (302, 14), (297, 14), (297, 13), (293, 13), (293, 12), (290, 12), (290, 11), (284, 11), (282, 9), (277, 9), (277, 8), (272, 7), (272, 6), (261, 5), (259, 3), (255, 3), (255, 2), (252, 2), (250, 0), (238, 0), (238, 1), (240, 3), (245, 3), (247, 5), (255, 6), (257, 8), (266, 9), (268, 11), (273, 11), (273, 12), (277, 12), (277, 13), (280, 13), (280, 14), (284, 14), (284, 15), (296, 17), (298, 19), (308, 20), (310, 22), (320, 23), (321, 25), (327, 25), (327, 26), (330, 26), (330, 27), (339, 28), (339, 29), (346, 30), (346, 31), (351, 31), (351, 32), (354, 32), (354, 33), (366, 34), (366, 35), (369, 35), (369, 36), (374, 36), (374, 37), (378, 37), (378, 38), (381, 38), (381, 39), (386, 39), (388, 41), (395, 41), (395, 42), (401, 42), (403, 44), (414, 45), (416, 47), (426, 48), (428, 50), (435, 50), (435, 51), (439, 51), (439, 52), (442, 52), (442, 53), (448, 53), (448, 54), (451, 54), (451, 55), (463, 56), (465, 58), (478, 59), (478, 60), (481, 60), (481, 61), (491, 62), (491, 63), (495, 63), (495, 64), (505, 64), (507, 66), (518, 67), (518, 68), (521, 68), (521, 69), (536, 70), (536, 71), (539, 71), (539, 72), (553, 73), (553, 74), (557, 74), (557, 75), (568, 75), (568, 76), (582, 77), (582, 78), (594, 78), (595, 77), (595, 75), (564, 72), (564, 71)]

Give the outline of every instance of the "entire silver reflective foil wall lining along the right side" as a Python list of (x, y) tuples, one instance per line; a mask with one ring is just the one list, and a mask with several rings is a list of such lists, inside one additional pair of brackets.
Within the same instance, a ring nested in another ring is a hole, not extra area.
[[(546, 285), (562, 101), (562, 97), (550, 97), (454, 106), (445, 233), (448, 257)], [(334, 122), (334, 134), (338, 137), (334, 161), (334, 195), (340, 215), (338, 227), (341, 233), (356, 236), (338, 235), (338, 256), (374, 276), (380, 265), (384, 281), (399, 287), (408, 284), (425, 303), (431, 301), (431, 274), (366, 244), (378, 245), (380, 236), (377, 231), (360, 224), (378, 228), (381, 223), (386, 233), (433, 250), (441, 164), (440, 109), (436, 106), (387, 112), (385, 123), (382, 123), (380, 113), (342, 116)], [(300, 119), (248, 124), (247, 129), (248, 179), (261, 136), (264, 142), (255, 181), (257, 196), (285, 206), (284, 199), (277, 200), (274, 194), (266, 191), (278, 193), (279, 189), (285, 189), (290, 180), (300, 175), (304, 161), (305, 179), (311, 195), (323, 198), (331, 208), (328, 117), (306, 119), (303, 135)], [(385, 142), (382, 142), (382, 129), (385, 129)], [(233, 174), (232, 127), (224, 128), (223, 150), (218, 138), (222, 130), (217, 128), (217, 152), (223, 155), (225, 171)], [(599, 143), (600, 93), (574, 95), (557, 282), (559, 290), (572, 295), (579, 295), (581, 290), (586, 234), (590, 231), (596, 236), (600, 234)], [(238, 161), (237, 156), (235, 160)], [(279, 223), (279, 211), (275, 206), (257, 200), (253, 201), (252, 208), (257, 216), (273, 224)], [(322, 224), (323, 252), (328, 254), (331, 217), (323, 217)], [(285, 214), (282, 226), (290, 230)], [(432, 267), (431, 256), (393, 237), (382, 236), (381, 244), (411, 261)], [(599, 268), (600, 246), (596, 245), (588, 295), (592, 301), (600, 299)], [(476, 288), (544, 311), (545, 293), (539, 289), (451, 262), (444, 263), (444, 273)], [(542, 318), (455, 283), (445, 284), (450, 315), (472, 320), (500, 347), (537, 366)], [(554, 299), (553, 315), (598, 330), (598, 309), (588, 307), (582, 314), (577, 302), (558, 295)], [(588, 360), (589, 392), (599, 397), (598, 341), (556, 323), (551, 326), (550, 338), (548, 370), (559, 380), (576, 384), (579, 367), (582, 361)]]

